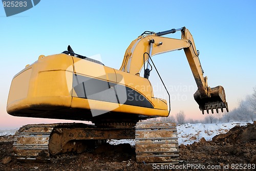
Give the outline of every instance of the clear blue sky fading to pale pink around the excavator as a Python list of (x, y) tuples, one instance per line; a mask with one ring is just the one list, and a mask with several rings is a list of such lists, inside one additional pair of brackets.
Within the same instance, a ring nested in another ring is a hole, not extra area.
[[(0, 6), (0, 129), (25, 123), (56, 122), (12, 117), (6, 102), (12, 77), (41, 54), (57, 54), (71, 45), (82, 55), (99, 54), (104, 65), (119, 69), (130, 42), (145, 30), (185, 26), (200, 50), (210, 87), (225, 88), (230, 110), (256, 86), (256, 1), (41, 1), (6, 17)], [(180, 38), (180, 32), (169, 37)], [(172, 94), (172, 113), (203, 118), (194, 101), (197, 90), (183, 51), (154, 56)], [(159, 79), (151, 76), (158, 88)], [(186, 90), (185, 90), (186, 89)], [(183, 99), (179, 99), (183, 97)]]

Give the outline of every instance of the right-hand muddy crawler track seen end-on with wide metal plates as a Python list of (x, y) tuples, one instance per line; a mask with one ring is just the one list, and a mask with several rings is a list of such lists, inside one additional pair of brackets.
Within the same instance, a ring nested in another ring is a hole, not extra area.
[(135, 140), (138, 163), (179, 162), (178, 135), (175, 123), (138, 122)]

